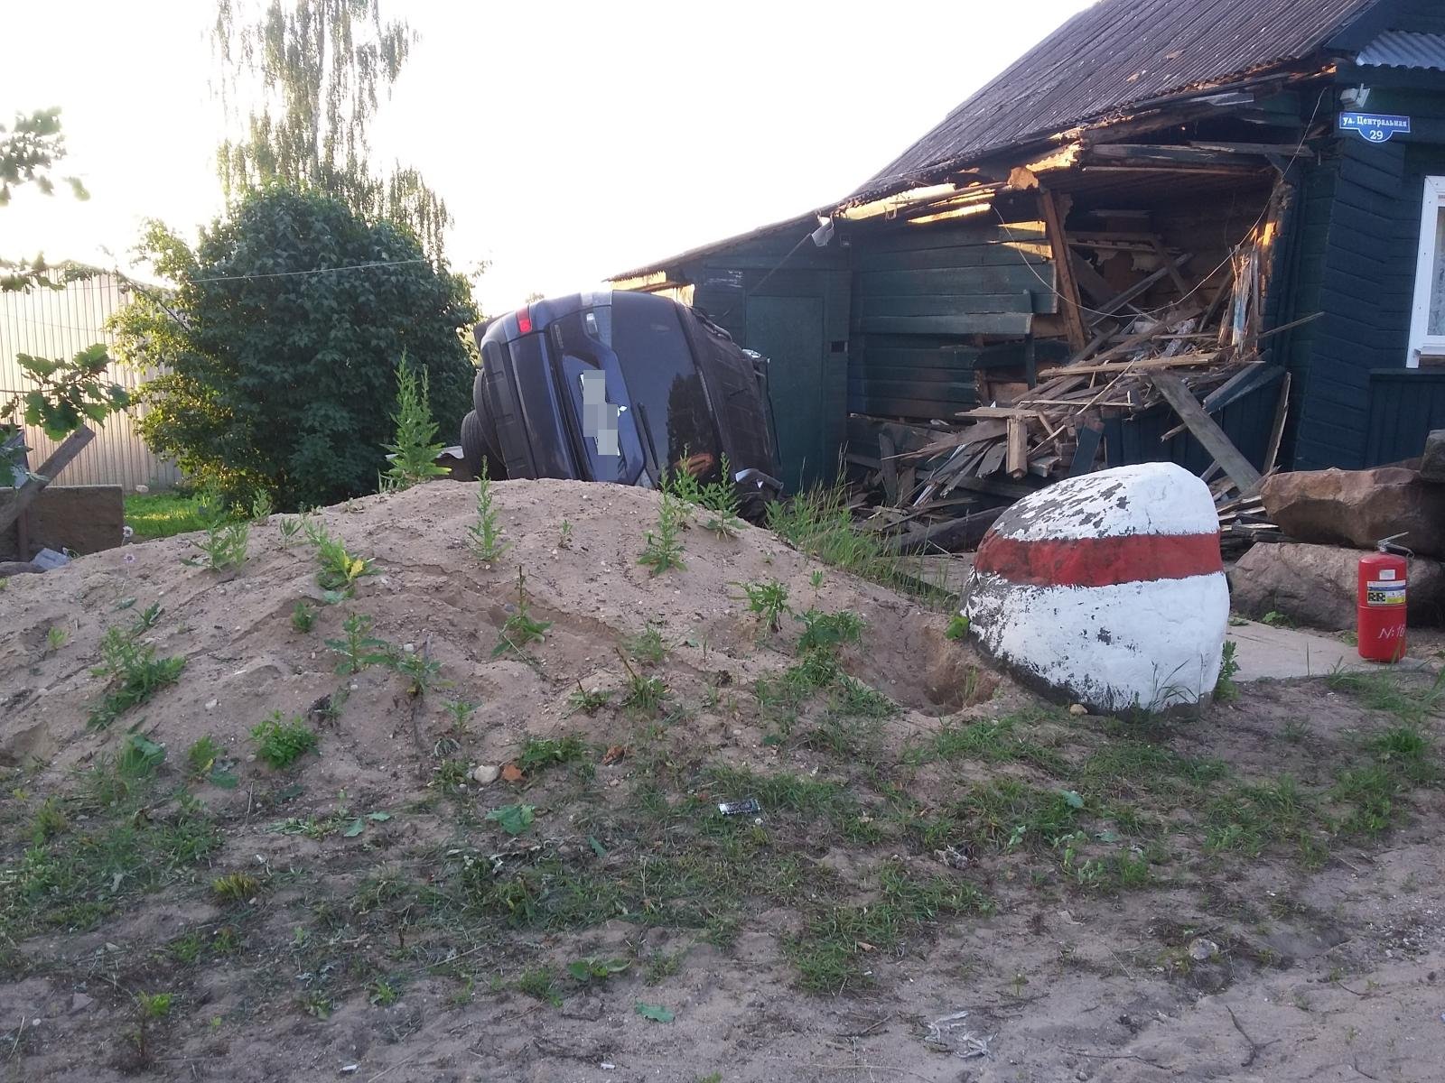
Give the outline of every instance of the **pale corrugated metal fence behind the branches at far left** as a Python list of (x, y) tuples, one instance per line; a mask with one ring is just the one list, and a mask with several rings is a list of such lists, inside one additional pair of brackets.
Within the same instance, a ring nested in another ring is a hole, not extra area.
[[(0, 293), (0, 400), (27, 388), (16, 354), (71, 358), (97, 342), (113, 345), (105, 321), (129, 300), (124, 283), (113, 274), (72, 282), (64, 290)], [(107, 375), (131, 391), (143, 383), (139, 373), (114, 362)], [(65, 468), (58, 484), (121, 485), (127, 491), (136, 485), (173, 485), (179, 471), (146, 448), (136, 432), (133, 413), (111, 414), (104, 425), (92, 426), (95, 439)], [(33, 468), (55, 449), (55, 440), (35, 427), (27, 427), (25, 435)]]

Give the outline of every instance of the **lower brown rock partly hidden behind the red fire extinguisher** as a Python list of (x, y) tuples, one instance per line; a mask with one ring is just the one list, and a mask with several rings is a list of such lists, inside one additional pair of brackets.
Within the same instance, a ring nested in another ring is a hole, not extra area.
[[(1277, 612), (1312, 628), (1353, 630), (1361, 556), (1358, 549), (1296, 542), (1254, 546), (1230, 569), (1230, 601), (1247, 617)], [(1415, 627), (1441, 624), (1445, 565), (1413, 557), (1406, 582), (1406, 621)]]

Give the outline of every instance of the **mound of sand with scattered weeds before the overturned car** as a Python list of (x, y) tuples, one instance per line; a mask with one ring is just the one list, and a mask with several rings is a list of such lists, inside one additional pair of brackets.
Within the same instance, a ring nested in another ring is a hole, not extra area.
[[(801, 625), (786, 621), (792, 627), (760, 645), (757, 621), (741, 601), (738, 583), (764, 579), (786, 583), (796, 609), (853, 609), (864, 619), (863, 645), (845, 656), (860, 679), (926, 715), (962, 706), (964, 671), (974, 658), (944, 638), (945, 615), (827, 567), (815, 591), (811, 573), (821, 566), (766, 530), (720, 539), (689, 529), (686, 567), (653, 576), (637, 554), (656, 521), (656, 494), (566, 481), (499, 482), (494, 491), (509, 543), (494, 566), (478, 563), (465, 546), (475, 520), (470, 485), (434, 484), (319, 513), (350, 552), (377, 566), (354, 598), (335, 605), (322, 602), (312, 547), (283, 537), (283, 517), (253, 529), (250, 559), (233, 572), (184, 563), (195, 549), (194, 536), (182, 536), (10, 580), (0, 595), (9, 628), (0, 638), (0, 762), (40, 760), (66, 770), (133, 726), (173, 754), (211, 735), (244, 761), (260, 719), (273, 710), (305, 716), (338, 683), (350, 696), (325, 734), (314, 777), (332, 790), (394, 790), (407, 768), (425, 780), (448, 697), (481, 705), (471, 722), (478, 739), (467, 749), (480, 761), (504, 761), (525, 736), (577, 729), (578, 719), (607, 742), (618, 736), (616, 712), (568, 718), (568, 695), (579, 683), (617, 689), (626, 677), (618, 647), (649, 624), (672, 647), (659, 673), (679, 699), (698, 699), (705, 684), (747, 689), (793, 661)], [(571, 524), (565, 539), (564, 523)], [(500, 628), (517, 605), (519, 569), (533, 617), (552, 627), (529, 648), (530, 660), (494, 658)], [(290, 622), (302, 599), (318, 611), (308, 632)], [(104, 689), (91, 673), (101, 637), (134, 624), (153, 604), (162, 612), (143, 640), (158, 657), (185, 657), (185, 670), (175, 686), (91, 734), (85, 719)], [(340, 656), (325, 640), (340, 638), (351, 614), (370, 615), (373, 635), (439, 661), (444, 687), (418, 703), (405, 679), (379, 666), (338, 682)], [(69, 634), (58, 650), (48, 648), (51, 628)], [(991, 692), (994, 680), (984, 676), (981, 692)], [(686, 723), (707, 744), (750, 754), (763, 748), (756, 722), (740, 728), (702, 710)]]

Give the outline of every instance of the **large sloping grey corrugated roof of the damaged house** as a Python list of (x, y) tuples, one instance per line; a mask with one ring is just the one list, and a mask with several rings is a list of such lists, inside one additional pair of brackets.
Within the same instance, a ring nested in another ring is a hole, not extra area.
[(949, 113), (854, 196), (877, 198), (942, 166), (1299, 61), (1374, 3), (1100, 0)]

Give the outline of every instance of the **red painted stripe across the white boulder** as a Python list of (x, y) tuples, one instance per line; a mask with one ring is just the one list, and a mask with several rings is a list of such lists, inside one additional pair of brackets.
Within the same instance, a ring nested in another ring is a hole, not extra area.
[(1224, 570), (1220, 536), (1124, 534), (1020, 542), (988, 534), (978, 546), (975, 572), (1036, 586), (1113, 586), (1186, 579)]

